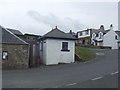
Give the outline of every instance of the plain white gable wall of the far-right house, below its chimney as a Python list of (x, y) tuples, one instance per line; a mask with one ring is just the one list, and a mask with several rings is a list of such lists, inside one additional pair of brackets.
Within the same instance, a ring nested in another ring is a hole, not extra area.
[(103, 46), (110, 46), (112, 49), (118, 49), (118, 40), (115, 39), (116, 35), (117, 34), (113, 30), (105, 34), (103, 39)]

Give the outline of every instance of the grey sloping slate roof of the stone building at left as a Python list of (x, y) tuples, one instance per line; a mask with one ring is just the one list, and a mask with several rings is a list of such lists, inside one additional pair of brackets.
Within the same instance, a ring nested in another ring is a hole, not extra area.
[(0, 32), (2, 32), (2, 43), (7, 43), (7, 44), (28, 44), (27, 42), (20, 39), (19, 37), (14, 35), (12, 32), (7, 30), (6, 28), (3, 28), (2, 26), (0, 26)]

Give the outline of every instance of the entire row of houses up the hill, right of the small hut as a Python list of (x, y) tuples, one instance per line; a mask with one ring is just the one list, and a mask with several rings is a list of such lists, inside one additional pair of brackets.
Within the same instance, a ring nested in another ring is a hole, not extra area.
[(79, 31), (77, 35), (77, 43), (84, 46), (103, 46), (111, 49), (118, 49), (120, 47), (119, 31), (115, 31), (112, 24), (107, 30), (101, 25), (99, 29)]

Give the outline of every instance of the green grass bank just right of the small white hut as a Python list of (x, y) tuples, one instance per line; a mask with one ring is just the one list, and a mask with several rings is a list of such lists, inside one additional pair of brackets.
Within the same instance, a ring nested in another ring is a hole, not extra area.
[(96, 53), (88, 48), (76, 46), (75, 53), (79, 55), (81, 61), (88, 61), (89, 59), (96, 56)]

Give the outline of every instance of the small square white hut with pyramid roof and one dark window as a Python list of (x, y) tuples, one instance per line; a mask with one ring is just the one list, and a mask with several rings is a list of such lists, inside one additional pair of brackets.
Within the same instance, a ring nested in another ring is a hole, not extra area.
[(73, 63), (75, 61), (75, 40), (71, 34), (56, 28), (40, 38), (40, 57), (45, 65)]

